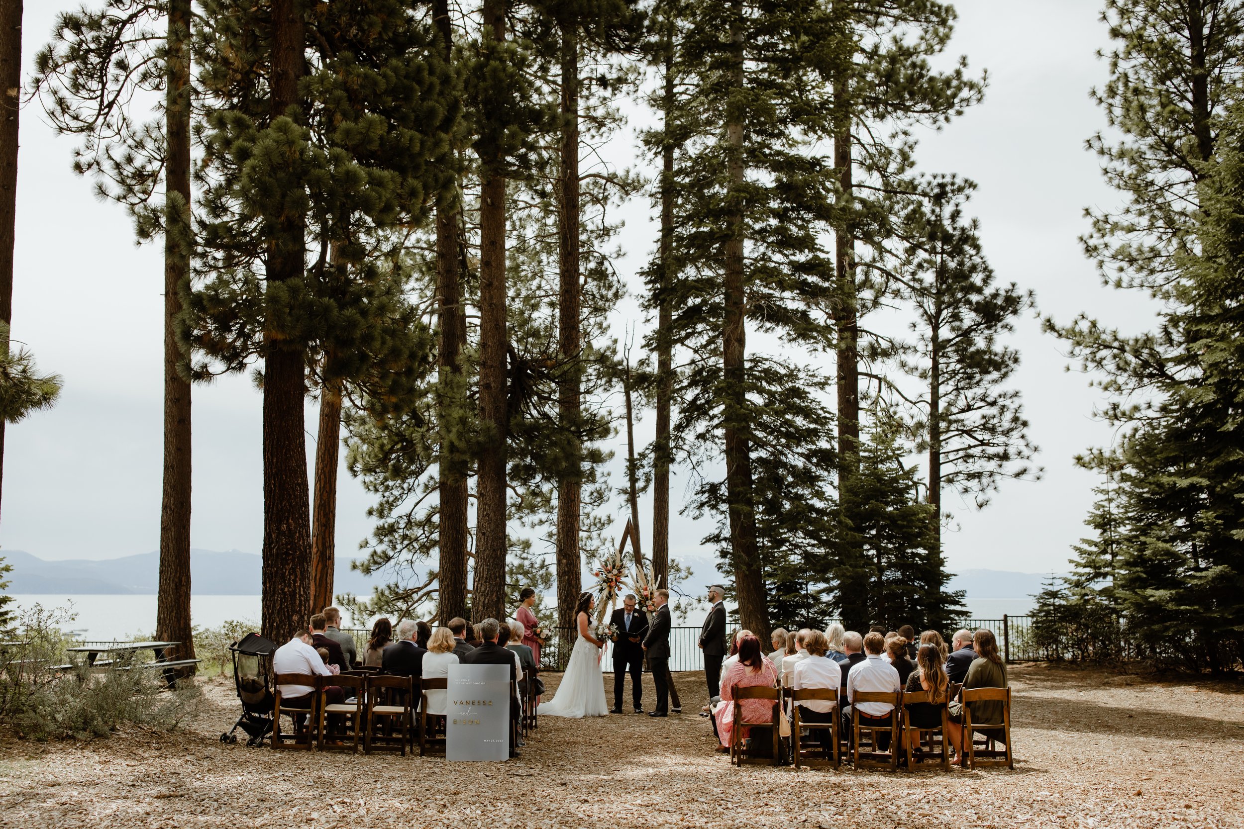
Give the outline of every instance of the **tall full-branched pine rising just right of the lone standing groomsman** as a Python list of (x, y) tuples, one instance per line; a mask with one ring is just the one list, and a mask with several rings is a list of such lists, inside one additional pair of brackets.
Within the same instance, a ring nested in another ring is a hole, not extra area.
[(832, 209), (832, 168), (807, 153), (807, 143), (829, 123), (829, 97), (809, 91), (829, 82), (837, 39), (821, 6), (797, 0), (699, 4), (687, 19), (674, 58), (688, 91), (678, 104), (685, 160), (672, 245), (677, 261), (694, 270), (672, 278), (656, 302), (671, 305), (672, 344), (722, 354), (720, 364), (695, 360), (680, 378), (680, 395), (695, 403), (683, 405), (679, 431), (720, 435), (720, 508), (730, 524), (740, 624), (766, 636), (753, 462), (763, 393), (746, 328), (750, 322), (809, 348), (832, 339), (821, 316), (832, 280), (819, 242)]

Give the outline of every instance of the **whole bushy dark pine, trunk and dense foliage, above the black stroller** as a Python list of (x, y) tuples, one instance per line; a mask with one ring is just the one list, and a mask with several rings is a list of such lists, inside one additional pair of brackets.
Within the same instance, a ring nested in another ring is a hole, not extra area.
[[(203, 267), (184, 336), (209, 370), (262, 357), (264, 631), (310, 609), (302, 426), (309, 357), (323, 379), (418, 360), (396, 331), (376, 250), (447, 186), (438, 159), (454, 102), (422, 6), (401, 0), (204, 2), (197, 31), (205, 127)], [(307, 241), (317, 254), (306, 260)], [(401, 319), (401, 316), (398, 317)], [(406, 321), (403, 321), (406, 322)]]

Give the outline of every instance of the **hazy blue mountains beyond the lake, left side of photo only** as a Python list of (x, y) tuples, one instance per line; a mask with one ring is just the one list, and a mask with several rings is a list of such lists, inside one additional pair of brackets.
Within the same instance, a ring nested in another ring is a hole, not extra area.
[[(102, 561), (63, 559), (45, 562), (19, 549), (0, 551), (12, 573), (10, 594), (154, 594), (159, 584), (159, 553), (141, 553)], [(335, 593), (371, 595), (373, 580), (350, 569), (351, 558), (338, 558), (333, 573)], [(202, 595), (258, 595), (262, 559), (254, 553), (231, 549), (190, 551), (190, 589)]]

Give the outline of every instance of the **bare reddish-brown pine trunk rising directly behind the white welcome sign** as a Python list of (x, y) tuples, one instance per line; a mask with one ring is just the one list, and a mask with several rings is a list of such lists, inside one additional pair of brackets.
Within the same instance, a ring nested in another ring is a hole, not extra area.
[[(484, 29), (495, 44), (505, 40), (505, 9), (484, 0)], [(495, 60), (495, 57), (494, 57)], [(486, 113), (485, 113), (486, 114)], [(480, 159), (479, 208), (479, 415), (488, 436), (479, 457), (474, 618), (505, 613), (505, 174), (500, 158)]]

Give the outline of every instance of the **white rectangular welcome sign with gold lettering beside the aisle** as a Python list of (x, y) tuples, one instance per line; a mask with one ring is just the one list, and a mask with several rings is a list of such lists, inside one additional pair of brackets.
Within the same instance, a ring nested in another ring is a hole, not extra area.
[(509, 759), (510, 666), (450, 665), (445, 759)]

